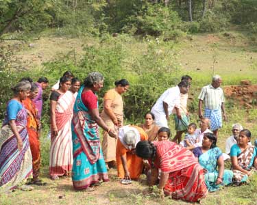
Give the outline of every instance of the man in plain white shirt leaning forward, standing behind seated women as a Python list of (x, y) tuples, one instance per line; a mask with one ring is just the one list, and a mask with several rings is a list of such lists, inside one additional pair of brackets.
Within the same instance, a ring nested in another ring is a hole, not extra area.
[(160, 98), (158, 98), (154, 107), (151, 108), (151, 113), (154, 114), (155, 122), (158, 126), (169, 127), (169, 115), (171, 115), (174, 107), (177, 110), (177, 115), (181, 115), (179, 110), (180, 94), (186, 94), (188, 87), (188, 81), (181, 81), (177, 86), (166, 90)]

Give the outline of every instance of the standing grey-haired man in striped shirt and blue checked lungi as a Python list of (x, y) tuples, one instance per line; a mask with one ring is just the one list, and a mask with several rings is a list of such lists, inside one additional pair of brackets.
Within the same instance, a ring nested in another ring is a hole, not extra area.
[[(199, 118), (208, 118), (210, 119), (210, 130), (214, 135), (218, 135), (218, 130), (222, 126), (222, 115), (223, 112), (224, 120), (227, 120), (225, 115), (225, 97), (223, 90), (220, 87), (222, 83), (221, 77), (215, 75), (212, 77), (212, 83), (206, 85), (201, 89), (201, 93), (198, 96), (199, 99)], [(204, 116), (202, 114), (202, 104), (204, 102)], [(217, 136), (218, 137), (218, 136)]]

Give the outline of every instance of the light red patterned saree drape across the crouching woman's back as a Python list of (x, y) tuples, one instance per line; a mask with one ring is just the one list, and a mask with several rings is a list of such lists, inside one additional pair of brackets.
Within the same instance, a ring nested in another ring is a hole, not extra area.
[(193, 153), (177, 143), (172, 141), (153, 141), (152, 143), (156, 146), (154, 165), (162, 172), (175, 172), (197, 164)]

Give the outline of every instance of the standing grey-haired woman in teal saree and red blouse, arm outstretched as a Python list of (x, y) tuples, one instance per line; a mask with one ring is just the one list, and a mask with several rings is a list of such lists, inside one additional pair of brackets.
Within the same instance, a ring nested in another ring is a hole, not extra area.
[(71, 124), (73, 139), (73, 187), (76, 190), (90, 189), (94, 184), (108, 181), (106, 163), (100, 147), (99, 126), (111, 137), (117, 134), (99, 117), (95, 92), (103, 87), (103, 76), (90, 72), (80, 87), (73, 108)]

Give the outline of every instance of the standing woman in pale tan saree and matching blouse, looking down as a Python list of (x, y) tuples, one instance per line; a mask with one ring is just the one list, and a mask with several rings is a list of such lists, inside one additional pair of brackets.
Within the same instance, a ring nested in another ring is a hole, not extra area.
[[(123, 100), (121, 94), (127, 92), (130, 83), (126, 79), (121, 79), (114, 84), (116, 87), (108, 90), (103, 98), (103, 112), (101, 113), (101, 118), (108, 127), (118, 133), (118, 128), (123, 126)], [(101, 145), (106, 167), (114, 167), (116, 162), (115, 148), (117, 139), (110, 137), (108, 133), (104, 133)]]

